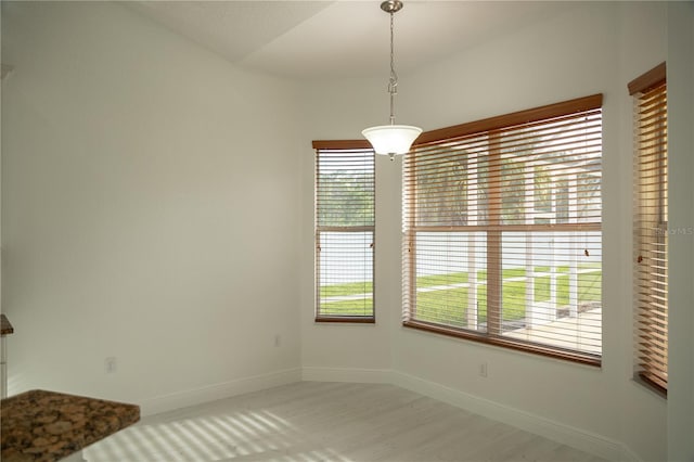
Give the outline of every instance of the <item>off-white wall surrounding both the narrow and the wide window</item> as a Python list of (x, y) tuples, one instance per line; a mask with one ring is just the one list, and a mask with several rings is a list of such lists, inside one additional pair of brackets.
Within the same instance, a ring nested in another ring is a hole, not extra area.
[[(632, 145), (626, 86), (666, 59), (666, 10), (665, 3), (577, 4), (566, 14), (465, 50), (424, 70), (400, 73), (398, 120), (419, 124), (425, 130), (604, 93), (602, 369), (401, 328), (400, 162), (383, 159), (376, 165), (378, 192), (385, 192), (376, 196), (376, 265), (382, 268), (376, 271), (378, 324), (375, 329), (313, 324), (311, 261), (305, 258), (305, 376), (390, 380), (478, 412), (525, 423), (606, 457), (665, 459), (666, 402), (630, 380)], [(645, 31), (635, 27), (637, 22)], [(363, 127), (387, 115), (383, 87), (381, 80), (312, 82), (305, 97), (308, 137), (358, 139)], [(339, 111), (331, 111), (330, 118), (321, 113), (334, 107)], [(306, 151), (304, 204), (311, 204), (311, 153), (308, 146)], [(310, 210), (303, 216), (307, 255)], [(487, 378), (477, 375), (483, 361), (488, 363)]]

